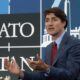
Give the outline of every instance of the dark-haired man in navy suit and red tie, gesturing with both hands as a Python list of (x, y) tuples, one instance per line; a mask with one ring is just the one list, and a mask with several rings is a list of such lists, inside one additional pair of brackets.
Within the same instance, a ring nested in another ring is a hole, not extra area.
[[(37, 55), (37, 61), (27, 59), (33, 72), (22, 72), (15, 60), (5, 60), (5, 68), (20, 76), (22, 80), (77, 80), (80, 73), (80, 41), (66, 31), (67, 19), (59, 8), (45, 11), (45, 26), (53, 42), (44, 53), (44, 62)], [(52, 46), (56, 43), (56, 56), (52, 58)], [(51, 61), (52, 58), (52, 61)]]

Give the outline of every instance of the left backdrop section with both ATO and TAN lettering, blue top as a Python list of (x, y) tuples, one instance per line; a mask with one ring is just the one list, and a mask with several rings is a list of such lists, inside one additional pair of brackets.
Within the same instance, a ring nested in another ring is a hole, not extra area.
[(0, 53), (0, 79), (17, 80), (4, 68), (5, 58), (30, 71), (26, 58), (40, 53), (40, 0), (0, 0)]

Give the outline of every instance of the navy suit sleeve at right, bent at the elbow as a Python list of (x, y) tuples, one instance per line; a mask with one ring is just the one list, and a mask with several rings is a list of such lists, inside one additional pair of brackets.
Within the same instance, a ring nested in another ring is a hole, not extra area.
[(49, 77), (56, 80), (75, 80), (80, 72), (80, 44), (68, 50), (65, 68), (50, 67)]

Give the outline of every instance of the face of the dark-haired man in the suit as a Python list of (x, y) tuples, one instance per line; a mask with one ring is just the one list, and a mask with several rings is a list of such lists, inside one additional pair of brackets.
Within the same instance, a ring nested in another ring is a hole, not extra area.
[(64, 31), (66, 22), (62, 22), (60, 18), (53, 13), (49, 13), (45, 18), (45, 26), (47, 32), (52, 36), (59, 36)]

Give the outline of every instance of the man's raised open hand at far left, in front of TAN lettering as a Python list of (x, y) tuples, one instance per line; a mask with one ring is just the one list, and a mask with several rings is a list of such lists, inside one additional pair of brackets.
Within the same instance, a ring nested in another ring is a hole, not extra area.
[(20, 76), (22, 74), (20, 67), (16, 63), (16, 60), (14, 60), (14, 59), (11, 60), (11, 62), (9, 62), (9, 60), (5, 59), (4, 66), (9, 72), (11, 72), (17, 76)]

